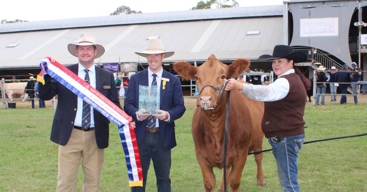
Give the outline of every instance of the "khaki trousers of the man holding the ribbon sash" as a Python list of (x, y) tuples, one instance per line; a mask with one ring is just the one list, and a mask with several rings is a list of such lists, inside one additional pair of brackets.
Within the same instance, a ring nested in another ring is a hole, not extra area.
[(76, 192), (81, 158), (83, 192), (98, 192), (101, 183), (104, 149), (97, 147), (94, 131), (73, 129), (65, 146), (59, 145), (57, 192)]

